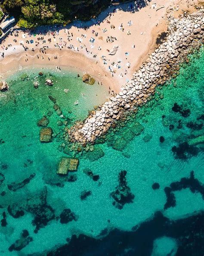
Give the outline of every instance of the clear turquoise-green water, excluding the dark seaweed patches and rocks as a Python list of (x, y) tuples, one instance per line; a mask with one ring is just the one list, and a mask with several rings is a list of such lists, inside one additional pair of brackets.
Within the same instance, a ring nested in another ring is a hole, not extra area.
[[(104, 151), (104, 157), (92, 162), (87, 158), (87, 154), (77, 154), (77, 157), (80, 157), (77, 180), (62, 182), (63, 187), (50, 185), (51, 181), (58, 179), (56, 169), (60, 158), (67, 156), (59, 151), (59, 145), (63, 143), (62, 138), (57, 136), (48, 144), (41, 144), (39, 141), (40, 128), (37, 127), (37, 121), (47, 112), (53, 111), (49, 118), (49, 127), (53, 128), (55, 134), (62, 134), (64, 128), (57, 125), (60, 117), (54, 112), (53, 102), (48, 95), (56, 98), (63, 115), (69, 118), (68, 125), (71, 125), (75, 120), (85, 118), (87, 111), (93, 109), (94, 105), (102, 103), (103, 99), (96, 94), (103, 94), (105, 100), (107, 91), (97, 84), (93, 87), (85, 85), (76, 74), (65, 71), (58, 73), (44, 70), (46, 77), (50, 76), (49, 73), (52, 74), (54, 86), (44, 86), (43, 77), (40, 78), (42, 81), (38, 89), (33, 88), (32, 79), (37, 76), (39, 70), (23, 70), (10, 77), (9, 91), (0, 93), (0, 138), (5, 141), (0, 144), (0, 172), (5, 176), (0, 192), (6, 192), (6, 195), (0, 195), (0, 213), (6, 211), (8, 223), (6, 227), (0, 227), (0, 255), (41, 253), (56, 245), (65, 244), (72, 234), (96, 237), (105, 228), (131, 230), (133, 226), (151, 218), (156, 211), (161, 211), (171, 220), (178, 220), (204, 210), (201, 193), (192, 193), (189, 188), (175, 191), (176, 206), (164, 210), (167, 201), (164, 188), (170, 186), (171, 182), (189, 177), (190, 172), (194, 170), (195, 178), (204, 184), (203, 144), (196, 145), (197, 154), (187, 154), (185, 160), (176, 158), (171, 150), (173, 146), (178, 147), (190, 138), (204, 133), (203, 127), (199, 130), (186, 127), (191, 121), (198, 124), (203, 122), (201, 119), (197, 120), (203, 114), (204, 105), (203, 50), (200, 55), (200, 58), (192, 56), (190, 64), (182, 67), (179, 76), (167, 86), (163, 86), (162, 90), (158, 89), (155, 99), (139, 109), (135, 118), (130, 118), (123, 128), (110, 132), (105, 143), (94, 146), (95, 149), (100, 147)], [(29, 74), (30, 80), (22, 81), (19, 77), (25, 72)], [(65, 93), (64, 89), (69, 89), (70, 92)], [(85, 94), (84, 97), (82, 93)], [(74, 105), (76, 100), (79, 101), (77, 106)], [(185, 118), (180, 113), (173, 112), (174, 103), (183, 109), (190, 109), (190, 115)], [(182, 128), (177, 128), (179, 120)], [(130, 140), (122, 151), (111, 147), (114, 141), (124, 136), (124, 132), (134, 122), (139, 122), (144, 127), (142, 133)], [(169, 125), (174, 125), (173, 130), (170, 131)], [(144, 141), (145, 136), (150, 138), (148, 142)], [(163, 143), (159, 140), (160, 136), (165, 139)], [(94, 182), (90, 179), (83, 173), (85, 168), (99, 175), (99, 180)], [(114, 200), (110, 194), (118, 185), (118, 173), (122, 170), (127, 171), (127, 185), (135, 197), (133, 203), (127, 203), (122, 209), (118, 209), (112, 205)], [(36, 176), (22, 189), (12, 192), (7, 188), (7, 184), (21, 182), (31, 173), (36, 173)], [(152, 189), (154, 182), (159, 183), (159, 189)], [(78, 219), (68, 224), (61, 224), (58, 219), (53, 219), (35, 234), (35, 227), (31, 224), (33, 214), (25, 211), (24, 216), (13, 218), (6, 208), (14, 203), (24, 205), (31, 197), (37, 198), (38, 192), (44, 186), (47, 186), (48, 191), (47, 205), (54, 209), (56, 217), (63, 209), (70, 208)], [(86, 200), (81, 200), (80, 193), (85, 189), (90, 190), (92, 194)], [(9, 252), (9, 246), (19, 239), (23, 229), (28, 230), (33, 241), (20, 252)], [(170, 244), (169, 247), (177, 248), (174, 242), (166, 240)], [(161, 242), (158, 240), (155, 243)]]

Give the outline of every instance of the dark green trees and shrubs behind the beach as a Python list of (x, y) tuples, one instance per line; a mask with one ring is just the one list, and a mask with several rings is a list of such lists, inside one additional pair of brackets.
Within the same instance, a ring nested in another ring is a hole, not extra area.
[(68, 24), (75, 19), (87, 20), (109, 4), (110, 0), (5, 0), (1, 7), (19, 20), (20, 27), (33, 28)]

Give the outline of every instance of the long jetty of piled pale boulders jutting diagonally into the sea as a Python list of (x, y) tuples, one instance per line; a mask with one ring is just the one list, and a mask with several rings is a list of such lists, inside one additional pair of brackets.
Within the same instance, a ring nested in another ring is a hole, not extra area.
[(147, 102), (155, 87), (178, 74), (179, 64), (188, 54), (201, 46), (204, 33), (204, 10), (181, 19), (170, 19), (168, 35), (147, 61), (142, 64), (129, 83), (115, 97), (111, 97), (98, 111), (83, 122), (78, 122), (68, 133), (72, 142), (93, 143), (105, 134), (111, 124), (121, 118), (124, 111)]

